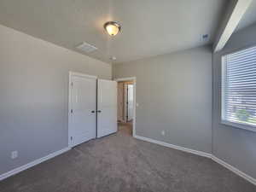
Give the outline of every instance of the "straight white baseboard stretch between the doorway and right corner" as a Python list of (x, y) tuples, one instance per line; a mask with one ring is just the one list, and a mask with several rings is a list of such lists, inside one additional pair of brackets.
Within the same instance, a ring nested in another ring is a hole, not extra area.
[(137, 136), (137, 135), (135, 136), (135, 138), (146, 141), (146, 142), (149, 142), (149, 143), (159, 144), (159, 145), (165, 146), (167, 148), (174, 148), (174, 149), (177, 149), (177, 150), (181, 150), (181, 151), (187, 152), (189, 154), (197, 154), (197, 155), (202, 156), (202, 157), (212, 158), (212, 154), (208, 154), (208, 153), (202, 152), (202, 151), (197, 151), (197, 150), (194, 150), (194, 149), (191, 149), (191, 148), (183, 148), (183, 147), (173, 145), (173, 144), (170, 144), (170, 143), (160, 142), (160, 141), (148, 138), (148, 137), (141, 137), (141, 136)]

